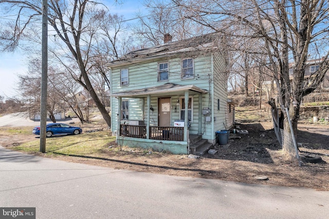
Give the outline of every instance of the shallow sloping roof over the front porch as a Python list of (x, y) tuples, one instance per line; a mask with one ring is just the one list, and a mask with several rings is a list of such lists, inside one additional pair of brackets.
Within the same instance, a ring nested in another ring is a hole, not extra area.
[(145, 96), (145, 95), (152, 95), (152, 94), (169, 94), (179, 91), (186, 91), (189, 90), (193, 93), (208, 93), (207, 90), (202, 88), (198, 88), (194, 85), (178, 85), (167, 83), (160, 86), (149, 87), (149, 88), (142, 88), (136, 90), (129, 90), (124, 92), (113, 93), (111, 96)]

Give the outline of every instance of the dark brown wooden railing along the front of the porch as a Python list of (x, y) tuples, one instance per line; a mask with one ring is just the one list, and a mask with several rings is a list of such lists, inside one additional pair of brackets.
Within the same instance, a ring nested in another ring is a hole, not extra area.
[[(120, 124), (120, 136), (147, 138), (147, 126)], [(150, 126), (150, 139), (184, 141), (184, 127)]]

